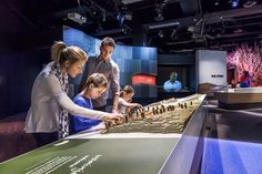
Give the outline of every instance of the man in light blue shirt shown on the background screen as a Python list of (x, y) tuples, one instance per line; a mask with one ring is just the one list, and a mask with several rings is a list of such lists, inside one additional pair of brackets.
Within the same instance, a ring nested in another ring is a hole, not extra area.
[(177, 80), (178, 72), (171, 72), (169, 75), (170, 80), (164, 82), (163, 89), (165, 92), (178, 92), (182, 89), (182, 84)]

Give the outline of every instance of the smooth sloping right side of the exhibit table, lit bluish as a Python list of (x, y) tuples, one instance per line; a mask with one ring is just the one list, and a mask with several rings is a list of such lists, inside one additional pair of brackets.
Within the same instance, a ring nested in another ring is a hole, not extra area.
[(203, 152), (203, 130), (205, 129), (206, 111), (202, 108), (204, 102), (203, 99), (201, 105), (194, 111), (182, 137), (167, 158), (160, 174), (199, 173)]

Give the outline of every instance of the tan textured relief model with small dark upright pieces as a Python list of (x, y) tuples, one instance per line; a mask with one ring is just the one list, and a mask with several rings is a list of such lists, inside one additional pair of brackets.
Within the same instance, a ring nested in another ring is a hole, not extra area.
[(110, 127), (107, 133), (182, 133), (202, 100), (201, 94), (193, 94), (152, 103), (141, 111), (132, 110), (125, 123)]

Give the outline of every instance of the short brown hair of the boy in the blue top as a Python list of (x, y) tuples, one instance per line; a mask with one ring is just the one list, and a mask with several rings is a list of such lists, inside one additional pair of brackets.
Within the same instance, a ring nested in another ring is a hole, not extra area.
[(85, 88), (89, 88), (89, 85), (93, 83), (94, 88), (108, 88), (108, 80), (107, 78), (101, 73), (93, 73), (88, 78)]

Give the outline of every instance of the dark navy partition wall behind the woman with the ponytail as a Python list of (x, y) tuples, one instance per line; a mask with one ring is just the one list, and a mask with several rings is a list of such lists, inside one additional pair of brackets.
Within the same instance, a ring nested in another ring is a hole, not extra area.
[(49, 53), (43, 49), (0, 55), (0, 117), (28, 111), (33, 81)]

